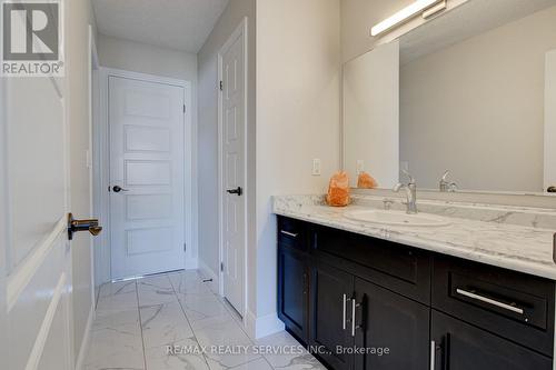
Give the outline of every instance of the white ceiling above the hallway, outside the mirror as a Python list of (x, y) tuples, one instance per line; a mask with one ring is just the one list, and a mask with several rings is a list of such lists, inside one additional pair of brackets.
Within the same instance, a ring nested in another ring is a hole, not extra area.
[(92, 0), (100, 33), (197, 53), (228, 0)]

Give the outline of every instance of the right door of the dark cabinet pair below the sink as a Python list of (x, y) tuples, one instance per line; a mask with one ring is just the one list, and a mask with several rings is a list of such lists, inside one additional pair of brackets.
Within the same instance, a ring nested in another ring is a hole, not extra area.
[(356, 370), (429, 369), (429, 314), (421, 303), (355, 280)]

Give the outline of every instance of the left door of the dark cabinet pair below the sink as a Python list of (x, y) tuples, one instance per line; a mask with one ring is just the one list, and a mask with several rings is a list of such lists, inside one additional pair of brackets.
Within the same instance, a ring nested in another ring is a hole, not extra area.
[(337, 351), (354, 346), (349, 303), (354, 277), (331, 266), (317, 262), (311, 273), (310, 344), (315, 353), (335, 370), (350, 369), (353, 356)]

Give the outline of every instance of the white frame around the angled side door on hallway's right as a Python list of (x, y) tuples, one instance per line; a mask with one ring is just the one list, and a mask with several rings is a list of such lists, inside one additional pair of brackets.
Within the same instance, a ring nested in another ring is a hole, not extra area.
[[(242, 124), (242, 130), (244, 130), (244, 138), (245, 138), (245, 156), (244, 156), (244, 166), (245, 166), (245, 179), (244, 179), (244, 193), (247, 197), (249, 194), (249, 183), (247, 181), (247, 122), (248, 122), (248, 107), (247, 107), (247, 98), (248, 98), (248, 40), (247, 40), (247, 17), (245, 17), (241, 20), (241, 23), (236, 28), (236, 30), (230, 34), (226, 43), (220, 48), (218, 51), (218, 81), (222, 81), (224, 78), (224, 71), (222, 71), (222, 59), (224, 54), (231, 48), (234, 44), (234, 41), (239, 37), (244, 37), (244, 68), (245, 68), (245, 97), (244, 97), (244, 104), (245, 104), (245, 114), (244, 114), (244, 124)], [(222, 91), (218, 89), (218, 291), (221, 297), (224, 297), (224, 271), (221, 269), (222, 261), (224, 261), (224, 192), (226, 191), (225, 186), (224, 186), (224, 163), (222, 163), (222, 154), (224, 154), (224, 122), (222, 122)], [(245, 214), (245, 246), (244, 246), (244, 274), (242, 274), (242, 301), (244, 301), (244, 312), (239, 312), (242, 317), (242, 320), (245, 322), (245, 313), (247, 312), (247, 240), (248, 240), (248, 198), (246, 198), (245, 207), (246, 211), (244, 212)]]

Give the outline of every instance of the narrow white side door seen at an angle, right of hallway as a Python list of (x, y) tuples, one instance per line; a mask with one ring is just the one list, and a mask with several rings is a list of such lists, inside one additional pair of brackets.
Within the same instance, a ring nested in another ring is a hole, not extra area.
[(245, 260), (245, 50), (234, 34), (221, 54), (224, 296), (242, 314)]

